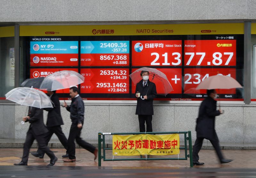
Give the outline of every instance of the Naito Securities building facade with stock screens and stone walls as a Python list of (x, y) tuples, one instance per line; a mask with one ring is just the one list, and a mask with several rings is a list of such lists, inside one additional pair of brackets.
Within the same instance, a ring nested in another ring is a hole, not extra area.
[[(165, 73), (173, 88), (164, 95), (154, 79), (159, 95), (153, 131), (191, 130), (195, 140), (199, 105), (206, 97), (195, 88), (218, 74), (243, 86), (217, 90), (225, 110), (216, 120), (220, 142), (256, 142), (256, 0), (0, 2), (0, 138), (25, 139), (28, 129), (20, 123), (28, 107), (5, 100), (4, 94), (27, 78), (59, 70), (85, 77), (78, 86), (85, 140), (97, 140), (98, 132), (137, 132), (129, 74), (152, 67)], [(68, 89), (57, 93), (61, 102), (70, 100)], [(61, 114), (68, 136), (69, 113), (61, 108)]]

